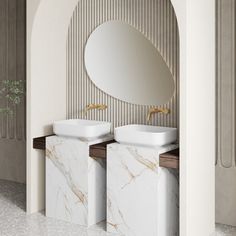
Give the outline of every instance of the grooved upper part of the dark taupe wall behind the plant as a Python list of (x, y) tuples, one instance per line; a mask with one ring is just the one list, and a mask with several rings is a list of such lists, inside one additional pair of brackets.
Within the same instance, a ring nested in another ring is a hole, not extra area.
[[(26, 80), (26, 1), (0, 1), (0, 80)], [(14, 115), (0, 114), (0, 138), (25, 140), (24, 101), (14, 108)], [(0, 107), (7, 100), (0, 98)]]

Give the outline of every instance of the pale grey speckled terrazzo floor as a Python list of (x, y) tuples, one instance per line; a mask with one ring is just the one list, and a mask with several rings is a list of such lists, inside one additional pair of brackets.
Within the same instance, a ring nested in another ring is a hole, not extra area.
[[(104, 222), (87, 230), (43, 213), (27, 215), (25, 195), (24, 184), (0, 180), (0, 236), (113, 236)], [(236, 228), (217, 224), (216, 236), (236, 236)]]

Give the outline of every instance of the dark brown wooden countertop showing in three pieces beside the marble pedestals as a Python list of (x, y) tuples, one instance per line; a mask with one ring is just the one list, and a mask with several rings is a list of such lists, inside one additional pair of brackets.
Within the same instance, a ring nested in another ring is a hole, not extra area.
[[(46, 149), (46, 138), (52, 136), (42, 136), (33, 139), (33, 148), (45, 150)], [(89, 148), (89, 156), (92, 158), (107, 158), (107, 145), (114, 143), (115, 140), (111, 140), (104, 143), (98, 143), (91, 145)], [(179, 149), (172, 150), (170, 152), (166, 152), (160, 154), (159, 163), (161, 167), (179, 169)]]

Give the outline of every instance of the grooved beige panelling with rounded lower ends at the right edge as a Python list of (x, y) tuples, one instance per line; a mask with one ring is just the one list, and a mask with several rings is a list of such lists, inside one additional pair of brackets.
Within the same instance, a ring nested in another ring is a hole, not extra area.
[(217, 1), (217, 159), (235, 167), (235, 1)]

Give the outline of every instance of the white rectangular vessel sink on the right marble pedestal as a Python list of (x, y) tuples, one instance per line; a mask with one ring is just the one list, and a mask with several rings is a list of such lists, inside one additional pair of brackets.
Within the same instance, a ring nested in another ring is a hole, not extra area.
[(123, 144), (164, 146), (177, 140), (177, 129), (149, 125), (126, 125), (115, 128), (115, 140)]

